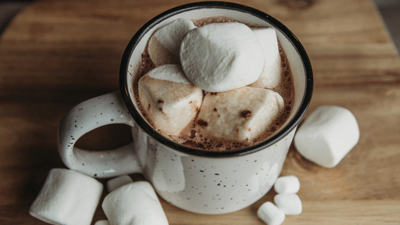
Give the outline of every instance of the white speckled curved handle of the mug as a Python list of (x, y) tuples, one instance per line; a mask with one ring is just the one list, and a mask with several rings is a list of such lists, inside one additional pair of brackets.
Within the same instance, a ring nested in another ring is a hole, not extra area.
[(108, 124), (134, 125), (119, 91), (86, 100), (70, 109), (57, 130), (58, 154), (64, 164), (71, 170), (97, 178), (142, 173), (133, 142), (107, 151), (74, 147), (84, 134)]

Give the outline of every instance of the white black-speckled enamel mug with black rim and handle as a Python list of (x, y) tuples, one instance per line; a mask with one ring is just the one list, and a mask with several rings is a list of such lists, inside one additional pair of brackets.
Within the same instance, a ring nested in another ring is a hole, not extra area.
[[(256, 145), (225, 152), (194, 149), (159, 135), (136, 108), (132, 83), (150, 35), (176, 18), (227, 16), (262, 27), (274, 27), (287, 54), (295, 89), (294, 107), (286, 124)], [(73, 107), (58, 130), (58, 152), (65, 165), (93, 177), (142, 173), (157, 194), (181, 209), (223, 214), (247, 207), (263, 197), (279, 176), (298, 123), (311, 100), (312, 70), (307, 54), (283, 24), (264, 12), (225, 2), (179, 6), (154, 17), (132, 37), (119, 74), (121, 90)], [(131, 126), (133, 142), (110, 151), (74, 147), (85, 133), (113, 123)]]

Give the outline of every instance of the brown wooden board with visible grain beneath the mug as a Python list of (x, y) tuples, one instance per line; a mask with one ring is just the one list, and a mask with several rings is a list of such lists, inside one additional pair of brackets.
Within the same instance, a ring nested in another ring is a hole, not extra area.
[[(133, 34), (155, 15), (188, 2), (36, 1), (14, 18), (0, 36), (0, 224), (46, 224), (28, 209), (49, 170), (65, 167), (56, 150), (58, 122), (75, 104), (117, 90), (119, 63)], [(400, 62), (373, 3), (233, 2), (269, 13), (302, 42), (315, 83), (308, 114), (320, 105), (343, 106), (361, 131), (358, 144), (330, 169), (291, 146), (282, 175), (301, 181), (303, 213), (283, 224), (400, 224)], [(97, 129), (78, 144), (120, 145), (130, 140), (127, 129)], [(212, 216), (161, 202), (171, 225), (255, 225), (263, 224), (259, 205), (274, 194)], [(93, 222), (105, 218), (98, 207)]]

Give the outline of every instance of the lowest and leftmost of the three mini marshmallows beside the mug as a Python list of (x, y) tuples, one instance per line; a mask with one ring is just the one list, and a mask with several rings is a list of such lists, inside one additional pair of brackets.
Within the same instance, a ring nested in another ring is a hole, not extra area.
[(257, 216), (268, 225), (280, 225), (285, 220), (285, 213), (270, 201), (263, 203), (258, 208)]

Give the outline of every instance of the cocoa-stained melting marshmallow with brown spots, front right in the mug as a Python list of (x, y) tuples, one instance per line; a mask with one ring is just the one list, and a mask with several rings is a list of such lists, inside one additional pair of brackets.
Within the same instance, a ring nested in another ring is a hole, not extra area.
[(279, 93), (264, 88), (207, 92), (197, 123), (204, 136), (246, 141), (263, 133), (283, 106)]

